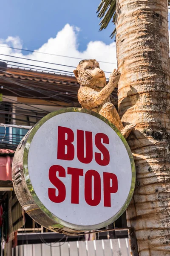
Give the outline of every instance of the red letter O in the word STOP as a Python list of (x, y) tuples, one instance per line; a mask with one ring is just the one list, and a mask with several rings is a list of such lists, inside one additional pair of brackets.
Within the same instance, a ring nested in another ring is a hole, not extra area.
[[(92, 177), (94, 177), (94, 196), (92, 198)], [(96, 206), (101, 200), (101, 179), (98, 172), (89, 170), (85, 174), (85, 201), (91, 206)]]

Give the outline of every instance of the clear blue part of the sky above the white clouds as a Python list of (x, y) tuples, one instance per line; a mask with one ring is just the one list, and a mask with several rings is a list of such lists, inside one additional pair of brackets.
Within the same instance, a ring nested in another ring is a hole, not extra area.
[(96, 9), (100, 0), (5, 0), (0, 8), (0, 38), (19, 36), (23, 47), (37, 49), (55, 37), (66, 23), (81, 30), (78, 49), (85, 50), (89, 41), (111, 44), (113, 23), (99, 32)]

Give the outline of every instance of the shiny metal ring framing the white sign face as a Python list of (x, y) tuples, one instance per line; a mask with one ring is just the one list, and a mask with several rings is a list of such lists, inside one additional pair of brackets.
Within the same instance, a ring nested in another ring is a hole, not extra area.
[[(66, 112), (86, 113), (86, 114), (90, 114), (90, 115), (95, 116), (95, 117), (101, 119), (102, 121), (104, 121), (120, 137), (120, 139), (122, 140), (123, 144), (125, 145), (125, 148), (127, 150), (128, 156), (130, 158), (131, 171), (132, 171), (132, 180), (131, 180), (130, 191), (129, 191), (129, 194), (128, 194), (127, 199), (125, 201), (125, 204), (122, 206), (122, 208), (113, 217), (111, 217), (107, 221), (101, 222), (99, 224), (82, 226), (82, 225), (71, 224), (71, 223), (69, 223), (67, 221), (63, 221), (62, 219), (60, 219), (57, 216), (53, 215), (42, 204), (40, 199), (37, 197), (37, 195), (36, 195), (36, 193), (34, 191), (34, 188), (33, 188), (32, 184), (31, 184), (31, 180), (30, 180), (29, 172), (28, 172), (28, 152), (29, 152), (31, 141), (32, 141), (34, 135), (36, 134), (36, 132), (38, 131), (38, 129), (41, 127), (41, 125), (43, 125), (48, 119), (51, 119), (53, 116), (57, 116), (59, 114), (66, 113)], [(135, 188), (135, 183), (136, 183), (136, 170), (135, 170), (135, 163), (134, 163), (133, 155), (132, 155), (130, 147), (127, 144), (127, 141), (125, 140), (123, 135), (120, 133), (120, 131), (111, 122), (108, 121), (108, 119), (106, 119), (105, 117), (99, 115), (98, 113), (96, 113), (94, 111), (89, 111), (89, 110), (86, 110), (86, 109), (83, 109), (83, 108), (62, 108), (62, 109), (60, 109), (58, 111), (53, 111), (53, 112), (49, 113), (48, 115), (44, 116), (36, 125), (34, 125), (34, 127), (31, 129), (31, 132), (28, 135), (27, 142), (26, 142), (26, 147), (24, 148), (24, 153), (23, 153), (23, 174), (24, 174), (24, 177), (25, 177), (28, 189), (29, 189), (29, 191), (30, 191), (30, 193), (31, 193), (35, 203), (40, 207), (40, 209), (48, 217), (50, 217), (53, 221), (58, 223), (58, 224), (56, 224), (53, 227), (60, 228), (60, 229), (62, 229), (62, 227), (67, 227), (67, 228), (70, 228), (72, 230), (96, 230), (96, 229), (100, 229), (100, 228), (106, 227), (109, 224), (111, 224), (114, 221), (116, 221), (116, 219), (118, 219), (123, 214), (123, 212), (125, 212), (125, 210), (127, 209), (128, 205), (130, 204), (130, 201), (131, 201), (132, 196), (133, 196), (134, 188)]]

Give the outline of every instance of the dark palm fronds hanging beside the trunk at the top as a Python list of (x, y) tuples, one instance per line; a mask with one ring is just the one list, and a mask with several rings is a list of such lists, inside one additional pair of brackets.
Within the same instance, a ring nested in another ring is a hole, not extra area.
[[(170, 6), (170, 0), (168, 0), (168, 6)], [(99, 4), (97, 8), (97, 12), (99, 19), (102, 19), (99, 23), (101, 31), (102, 29), (107, 28), (108, 23), (112, 20), (112, 22), (115, 24), (116, 19), (116, 0), (102, 0), (102, 2)], [(110, 35), (111, 38), (114, 37), (116, 34), (116, 28), (113, 30), (112, 34)]]

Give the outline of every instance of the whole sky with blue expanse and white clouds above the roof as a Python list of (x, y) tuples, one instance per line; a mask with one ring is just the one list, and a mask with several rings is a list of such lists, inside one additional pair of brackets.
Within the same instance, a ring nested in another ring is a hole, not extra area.
[[(29, 53), (0, 47), (0, 58), (8, 62), (37, 64), (72, 72), (78, 59), (44, 55), (41, 52), (87, 59), (96, 58), (109, 72), (116, 68), (116, 44), (109, 36), (110, 23), (99, 32), (96, 9), (100, 0), (4, 0), (0, 8), (0, 45), (36, 50)], [(3, 56), (10, 55), (11, 57)], [(17, 58), (16, 58), (17, 57)], [(21, 58), (29, 58), (25, 60)], [(33, 61), (32, 61), (33, 60)], [(56, 64), (43, 64), (48, 61)], [(102, 63), (106, 61), (110, 63)], [(28, 67), (25, 65), (25, 67)], [(49, 70), (48, 70), (49, 71)], [(54, 71), (53, 71), (54, 72)], [(73, 75), (73, 73), (72, 73)]]

